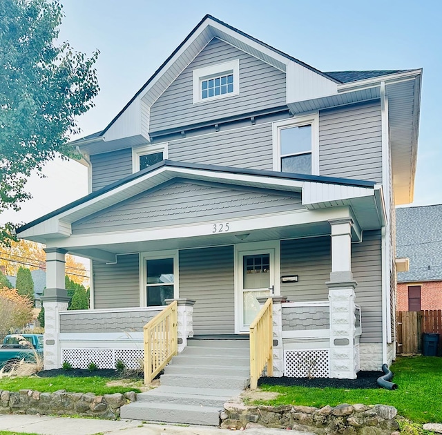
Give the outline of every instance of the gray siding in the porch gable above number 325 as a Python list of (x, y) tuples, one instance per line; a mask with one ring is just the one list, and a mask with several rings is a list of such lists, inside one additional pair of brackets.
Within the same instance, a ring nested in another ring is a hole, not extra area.
[(176, 182), (147, 191), (73, 224), (73, 234), (142, 229), (302, 209), (299, 194), (240, 191), (230, 186)]

